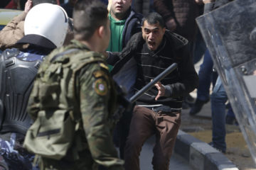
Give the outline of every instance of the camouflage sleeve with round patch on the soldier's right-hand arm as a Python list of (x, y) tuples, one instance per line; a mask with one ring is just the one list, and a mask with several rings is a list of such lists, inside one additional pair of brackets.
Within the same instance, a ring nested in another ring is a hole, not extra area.
[[(109, 169), (122, 169), (124, 162), (118, 158), (112, 142), (112, 123), (108, 103), (110, 84), (108, 77), (95, 77), (98, 64), (90, 64), (80, 73), (80, 110), (82, 123), (92, 158)], [(107, 74), (106, 74), (107, 75)]]

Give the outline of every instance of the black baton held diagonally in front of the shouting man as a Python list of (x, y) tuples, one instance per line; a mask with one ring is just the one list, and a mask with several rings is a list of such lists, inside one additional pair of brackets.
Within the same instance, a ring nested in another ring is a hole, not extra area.
[(164, 79), (164, 77), (166, 77), (168, 74), (170, 74), (171, 72), (174, 71), (174, 69), (177, 68), (177, 64), (171, 64), (166, 70), (164, 70), (164, 72), (161, 72), (161, 74), (159, 74), (156, 78), (154, 78), (149, 84), (146, 84), (146, 86), (144, 86), (140, 91), (138, 91), (136, 94), (134, 94), (134, 96), (132, 96), (129, 99), (129, 102), (134, 103), (135, 101), (137, 101), (137, 99), (142, 96), (146, 91), (148, 91), (149, 89), (151, 89), (154, 84), (156, 84), (157, 81), (161, 81), (161, 79)]

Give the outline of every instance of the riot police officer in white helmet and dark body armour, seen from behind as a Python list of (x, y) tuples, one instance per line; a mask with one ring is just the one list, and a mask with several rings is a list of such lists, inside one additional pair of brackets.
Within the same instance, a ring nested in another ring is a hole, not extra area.
[(63, 45), (68, 16), (58, 5), (38, 4), (28, 12), (25, 36), (17, 44), (28, 48), (6, 49), (0, 57), (0, 145), (9, 169), (32, 169), (32, 154), (23, 149), (31, 118), (26, 112), (33, 79), (45, 56)]

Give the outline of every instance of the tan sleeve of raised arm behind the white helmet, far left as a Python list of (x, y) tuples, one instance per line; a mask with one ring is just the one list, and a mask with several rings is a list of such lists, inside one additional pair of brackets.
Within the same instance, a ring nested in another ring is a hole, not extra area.
[(5, 49), (15, 45), (15, 43), (24, 36), (24, 21), (26, 13), (14, 17), (1, 31), (0, 31), (0, 48)]

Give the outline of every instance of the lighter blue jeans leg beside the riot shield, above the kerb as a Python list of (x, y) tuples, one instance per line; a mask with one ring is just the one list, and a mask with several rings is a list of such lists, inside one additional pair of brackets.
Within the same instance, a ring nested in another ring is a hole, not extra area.
[(210, 96), (210, 104), (213, 121), (213, 145), (225, 151), (225, 102), (228, 96), (225, 93), (220, 77), (218, 77), (213, 93)]

